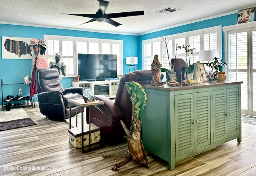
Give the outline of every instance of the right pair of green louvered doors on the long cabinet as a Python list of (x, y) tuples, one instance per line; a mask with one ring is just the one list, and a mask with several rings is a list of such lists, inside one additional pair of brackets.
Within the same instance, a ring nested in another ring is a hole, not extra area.
[(213, 142), (239, 134), (238, 88), (214, 90), (213, 94)]

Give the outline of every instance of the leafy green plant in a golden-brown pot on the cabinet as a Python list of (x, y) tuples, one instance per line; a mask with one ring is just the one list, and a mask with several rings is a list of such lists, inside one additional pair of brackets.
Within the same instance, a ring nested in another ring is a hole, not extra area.
[[(210, 68), (212, 68), (212, 74), (215, 74), (216, 73), (216, 79), (220, 82), (224, 82), (226, 80), (226, 75), (225, 75), (225, 72), (222, 72), (223, 70), (223, 66), (228, 66), (227, 63), (223, 62), (222, 59), (220, 59), (218, 57), (214, 57), (212, 59), (212, 61), (208, 61), (208, 63), (206, 63), (206, 66), (209, 66)], [(215, 70), (213, 72), (213, 69)], [(209, 74), (209, 77), (210, 77), (210, 74)]]

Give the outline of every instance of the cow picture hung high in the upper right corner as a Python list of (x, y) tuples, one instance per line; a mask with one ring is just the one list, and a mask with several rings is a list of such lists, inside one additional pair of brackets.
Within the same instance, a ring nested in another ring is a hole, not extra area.
[(255, 7), (238, 10), (237, 12), (237, 24), (253, 22), (255, 19)]

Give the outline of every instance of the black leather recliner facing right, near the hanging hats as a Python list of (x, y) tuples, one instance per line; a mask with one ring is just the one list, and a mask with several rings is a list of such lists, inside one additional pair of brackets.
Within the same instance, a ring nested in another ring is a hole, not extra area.
[[(69, 118), (69, 100), (82, 98), (82, 87), (70, 87), (64, 89), (59, 78), (59, 72), (55, 68), (36, 70), (36, 86), (40, 112), (47, 119), (63, 121)], [(81, 112), (78, 108), (78, 113)], [(76, 115), (76, 106), (72, 104), (71, 117)]]

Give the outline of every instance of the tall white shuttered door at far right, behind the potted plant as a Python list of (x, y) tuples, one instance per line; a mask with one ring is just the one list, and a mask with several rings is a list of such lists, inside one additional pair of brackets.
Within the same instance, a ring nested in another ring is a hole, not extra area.
[(241, 84), (241, 109), (247, 115), (256, 115), (256, 25), (232, 25), (225, 31), (228, 80)]

